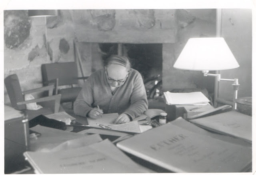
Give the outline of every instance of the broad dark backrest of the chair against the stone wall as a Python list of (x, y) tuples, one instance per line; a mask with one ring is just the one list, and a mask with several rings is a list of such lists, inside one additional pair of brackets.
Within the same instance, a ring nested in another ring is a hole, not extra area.
[(78, 70), (76, 62), (42, 64), (42, 80), (44, 86), (47, 81), (59, 79), (58, 85), (78, 84)]

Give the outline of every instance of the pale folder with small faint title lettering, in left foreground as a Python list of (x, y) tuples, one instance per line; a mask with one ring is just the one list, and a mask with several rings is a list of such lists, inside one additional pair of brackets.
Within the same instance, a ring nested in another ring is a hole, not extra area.
[(134, 165), (127, 157), (124, 158), (126, 155), (122, 151), (106, 141), (91, 147), (76, 147), (65, 151), (26, 151), (24, 156), (36, 172), (45, 174), (150, 172)]

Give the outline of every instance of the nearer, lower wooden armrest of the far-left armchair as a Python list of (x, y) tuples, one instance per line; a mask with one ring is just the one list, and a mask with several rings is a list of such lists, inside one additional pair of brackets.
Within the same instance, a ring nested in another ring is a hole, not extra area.
[(31, 100), (28, 100), (28, 101), (20, 101), (20, 102), (17, 103), (17, 105), (54, 100), (55, 101), (55, 103), (54, 103), (54, 113), (56, 113), (56, 112), (58, 112), (58, 110), (60, 108), (60, 97), (61, 97), (61, 94), (52, 95), (52, 96), (42, 97), (42, 98), (38, 98), (38, 99), (31, 99)]

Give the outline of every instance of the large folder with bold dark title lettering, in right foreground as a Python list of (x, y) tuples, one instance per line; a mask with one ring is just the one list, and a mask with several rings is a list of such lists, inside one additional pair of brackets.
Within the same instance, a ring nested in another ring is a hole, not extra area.
[(196, 128), (170, 122), (120, 141), (117, 147), (176, 173), (231, 173), (251, 166), (252, 147), (200, 134), (202, 129)]

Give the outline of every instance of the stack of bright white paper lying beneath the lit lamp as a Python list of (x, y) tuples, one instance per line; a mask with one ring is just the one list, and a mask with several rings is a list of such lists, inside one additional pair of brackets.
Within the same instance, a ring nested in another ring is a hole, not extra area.
[(210, 100), (202, 92), (171, 93), (164, 92), (168, 105), (209, 105)]

